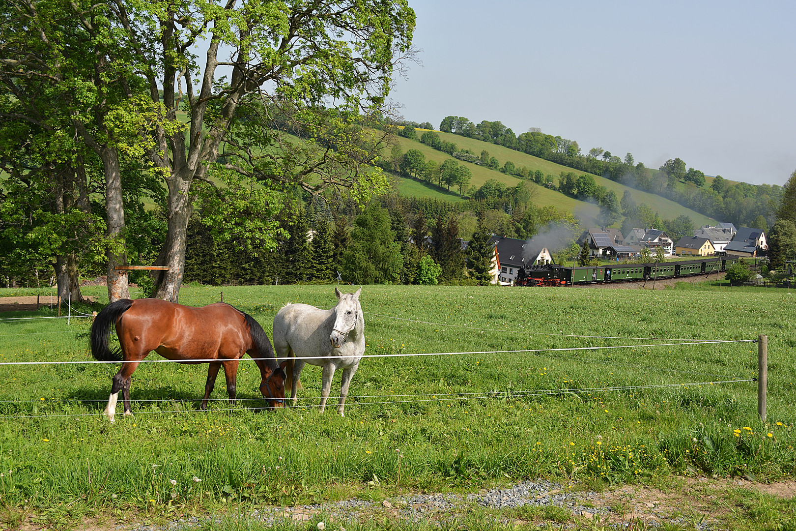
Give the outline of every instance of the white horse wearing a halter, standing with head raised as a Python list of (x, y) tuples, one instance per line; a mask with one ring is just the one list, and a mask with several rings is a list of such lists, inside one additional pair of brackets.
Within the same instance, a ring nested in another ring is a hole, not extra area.
[[(296, 404), (298, 379), (305, 363), (323, 367), (321, 412), (326, 409), (334, 371), (343, 369), (338, 413), (344, 416), (345, 396), (348, 396), (351, 378), (365, 353), (365, 318), (359, 304), (361, 291), (359, 288), (355, 293), (342, 294), (335, 287), (338, 303), (331, 310), (321, 310), (309, 304), (287, 304), (277, 312), (271, 337), (276, 357), (288, 361), (285, 393), (287, 396), (287, 391), (291, 391), (293, 405)], [(302, 357), (308, 359), (305, 361)]]

